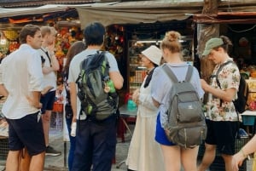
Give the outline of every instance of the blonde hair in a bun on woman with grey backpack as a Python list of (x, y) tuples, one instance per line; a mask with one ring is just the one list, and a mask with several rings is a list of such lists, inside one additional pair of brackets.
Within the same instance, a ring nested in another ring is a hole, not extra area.
[(172, 53), (181, 53), (182, 46), (179, 40), (181, 39), (181, 35), (177, 31), (167, 31), (166, 36), (163, 38), (160, 47), (162, 49), (167, 48)]

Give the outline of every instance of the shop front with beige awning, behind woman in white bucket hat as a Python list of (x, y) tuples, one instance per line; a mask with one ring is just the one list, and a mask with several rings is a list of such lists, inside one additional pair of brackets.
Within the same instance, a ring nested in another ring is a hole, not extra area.
[(194, 63), (195, 29), (188, 13), (201, 13), (202, 5), (201, 1), (133, 1), (75, 7), (82, 29), (93, 21), (102, 22), (108, 28), (105, 49), (115, 55), (125, 78), (124, 87), (119, 91), (120, 105), (127, 102), (129, 94), (140, 87), (146, 76), (146, 70), (140, 65), (141, 52), (152, 44), (159, 47), (166, 31), (181, 33), (184, 60)]

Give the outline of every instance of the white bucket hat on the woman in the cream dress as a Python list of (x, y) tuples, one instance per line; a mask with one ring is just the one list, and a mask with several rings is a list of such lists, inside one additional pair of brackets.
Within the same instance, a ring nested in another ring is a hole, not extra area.
[(149, 48), (146, 48), (142, 52), (149, 60), (151, 60), (154, 64), (160, 66), (160, 61), (162, 58), (162, 52), (160, 48), (157, 48), (154, 45), (151, 45)]

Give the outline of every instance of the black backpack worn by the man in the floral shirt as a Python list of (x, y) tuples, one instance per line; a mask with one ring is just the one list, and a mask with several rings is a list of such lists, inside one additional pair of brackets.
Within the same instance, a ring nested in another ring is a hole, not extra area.
[[(216, 72), (216, 82), (217, 82), (219, 88), (221, 88), (221, 87), (220, 87), (220, 83), (218, 81), (218, 74), (223, 69), (224, 66), (226, 66), (230, 63), (236, 64), (234, 61), (228, 60), (227, 62), (225, 62), (224, 64), (219, 66), (218, 71)], [(239, 88), (238, 88), (238, 92), (237, 92), (237, 99), (233, 101), (237, 112), (242, 113), (246, 110), (248, 94), (249, 94), (248, 84), (247, 84), (246, 80), (244, 79), (244, 77), (240, 77), (240, 83), (239, 83)], [(220, 105), (222, 105), (222, 101), (220, 101), (220, 103), (221, 103)]]

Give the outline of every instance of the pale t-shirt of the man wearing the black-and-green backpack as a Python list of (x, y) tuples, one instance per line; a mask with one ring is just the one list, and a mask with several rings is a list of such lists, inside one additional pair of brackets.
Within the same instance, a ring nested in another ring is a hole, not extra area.
[[(80, 73), (80, 64), (81, 62), (90, 54), (96, 54), (96, 49), (86, 49), (83, 52), (81, 52), (80, 54), (77, 54), (73, 57), (73, 59), (71, 60), (70, 66), (69, 66), (69, 74), (68, 74), (68, 83), (75, 83), (79, 77), (79, 73)], [(109, 63), (109, 72), (111, 71), (119, 71), (117, 62), (113, 56), (113, 54), (110, 53), (106, 53), (107, 58), (108, 58), (108, 63)], [(76, 86), (77, 91), (78, 91), (78, 86)], [(85, 119), (86, 116), (85, 115), (80, 115), (79, 111), (81, 108), (81, 103), (79, 98), (77, 97), (77, 119)]]

